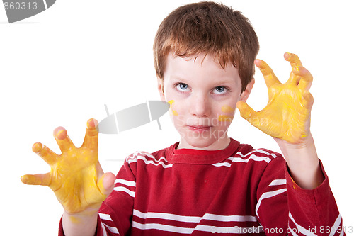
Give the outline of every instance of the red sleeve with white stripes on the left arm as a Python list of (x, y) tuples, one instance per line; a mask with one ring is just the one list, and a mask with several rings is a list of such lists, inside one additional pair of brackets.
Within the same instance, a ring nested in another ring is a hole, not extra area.
[[(126, 159), (116, 176), (113, 192), (103, 201), (99, 210), (97, 236), (130, 234), (135, 199), (135, 171), (136, 162), (130, 164)], [(59, 236), (64, 236), (62, 220), (59, 224)]]

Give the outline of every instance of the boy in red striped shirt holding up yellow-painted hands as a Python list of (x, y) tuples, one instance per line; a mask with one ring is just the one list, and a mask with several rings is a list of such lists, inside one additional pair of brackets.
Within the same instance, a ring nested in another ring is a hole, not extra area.
[[(156, 33), (154, 58), (181, 141), (135, 152), (117, 176), (98, 163), (96, 120), (88, 121), (80, 148), (55, 129), (60, 157), (33, 145), (52, 171), (21, 179), (55, 191), (64, 207), (59, 235), (343, 235), (309, 130), (312, 76), (286, 53), (292, 72), (280, 84), (257, 52), (249, 21), (226, 6), (200, 2), (170, 13)], [(258, 113), (245, 103), (253, 63), (269, 92)], [(275, 138), (285, 159), (227, 136), (236, 106)]]

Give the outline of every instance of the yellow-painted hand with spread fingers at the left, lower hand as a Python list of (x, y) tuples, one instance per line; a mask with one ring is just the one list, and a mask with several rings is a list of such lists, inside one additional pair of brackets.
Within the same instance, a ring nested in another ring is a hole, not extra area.
[(67, 130), (58, 127), (54, 137), (62, 150), (58, 155), (37, 142), (32, 150), (50, 165), (47, 174), (26, 174), (21, 177), (24, 184), (49, 186), (69, 214), (98, 212), (101, 203), (113, 191), (115, 176), (103, 174), (98, 162), (97, 121), (87, 122), (84, 143), (77, 148), (67, 136)]

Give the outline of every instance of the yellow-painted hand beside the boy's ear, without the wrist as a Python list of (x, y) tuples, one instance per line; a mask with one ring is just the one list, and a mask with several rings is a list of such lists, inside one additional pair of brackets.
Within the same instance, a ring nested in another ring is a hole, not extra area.
[(285, 84), (279, 82), (268, 64), (262, 60), (255, 61), (268, 87), (267, 106), (256, 112), (244, 101), (239, 101), (237, 108), (243, 118), (264, 133), (290, 143), (299, 143), (309, 135), (310, 113), (314, 102), (309, 93), (312, 75), (302, 67), (297, 55), (285, 53), (284, 57), (292, 67), (290, 78)]

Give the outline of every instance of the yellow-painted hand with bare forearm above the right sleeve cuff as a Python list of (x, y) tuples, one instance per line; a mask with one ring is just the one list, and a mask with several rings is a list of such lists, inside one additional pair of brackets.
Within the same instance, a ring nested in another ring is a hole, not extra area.
[(268, 105), (258, 112), (244, 102), (239, 102), (237, 107), (247, 120), (263, 120), (251, 124), (274, 137), (297, 184), (304, 189), (314, 189), (324, 181), (324, 176), (309, 130), (314, 102), (309, 93), (312, 75), (302, 67), (297, 55), (285, 53), (284, 57), (292, 66), (290, 79), (285, 84), (279, 82), (268, 64), (255, 61), (268, 86)]

